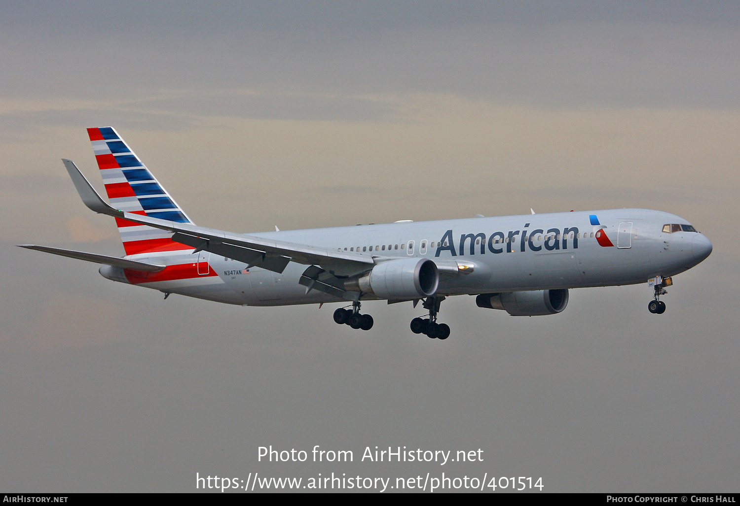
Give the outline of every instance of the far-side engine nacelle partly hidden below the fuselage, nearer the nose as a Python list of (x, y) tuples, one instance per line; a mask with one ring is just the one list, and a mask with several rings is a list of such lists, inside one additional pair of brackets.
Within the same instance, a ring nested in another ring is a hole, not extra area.
[(505, 310), (512, 316), (554, 315), (568, 305), (568, 289), (481, 293), (475, 303), (478, 307)]

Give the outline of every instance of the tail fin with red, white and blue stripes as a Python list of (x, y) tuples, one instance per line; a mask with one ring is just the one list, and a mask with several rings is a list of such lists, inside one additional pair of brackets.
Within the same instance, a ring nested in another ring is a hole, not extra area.
[[(149, 169), (110, 126), (87, 129), (110, 204), (121, 211), (171, 222), (192, 223)], [(116, 218), (127, 255), (153, 251), (189, 250), (172, 241), (171, 233)]]

